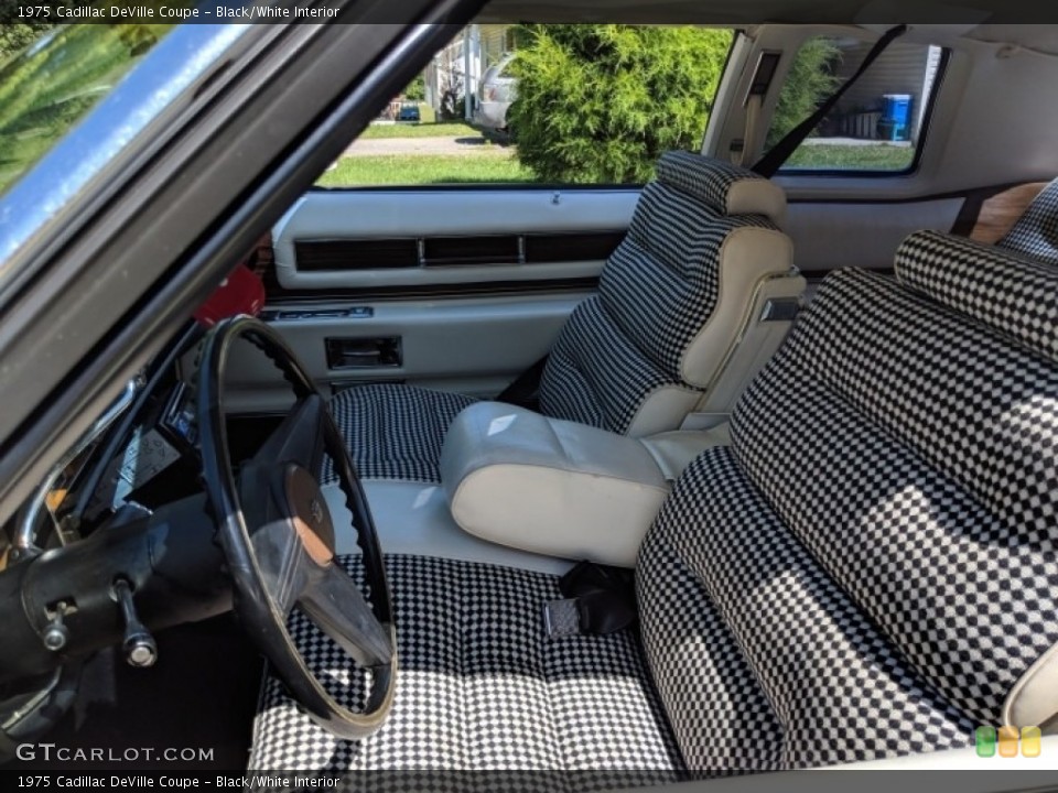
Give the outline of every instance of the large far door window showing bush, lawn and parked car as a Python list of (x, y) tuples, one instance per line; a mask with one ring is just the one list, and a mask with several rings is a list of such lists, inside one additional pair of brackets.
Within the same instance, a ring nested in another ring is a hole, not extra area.
[(662, 152), (701, 146), (732, 41), (693, 25), (468, 25), (317, 184), (641, 184)]

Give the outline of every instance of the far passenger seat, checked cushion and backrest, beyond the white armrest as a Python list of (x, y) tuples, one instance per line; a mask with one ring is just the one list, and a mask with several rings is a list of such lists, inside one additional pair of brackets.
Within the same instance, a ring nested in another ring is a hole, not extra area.
[[(657, 165), (600, 293), (571, 315), (540, 383), (540, 412), (633, 436), (676, 430), (723, 368), (762, 282), (796, 278), (778, 230), (782, 191), (691, 152)], [(331, 401), (359, 474), (439, 482), (444, 435), (476, 400), (397, 384)], [(333, 481), (333, 474), (324, 474)]]

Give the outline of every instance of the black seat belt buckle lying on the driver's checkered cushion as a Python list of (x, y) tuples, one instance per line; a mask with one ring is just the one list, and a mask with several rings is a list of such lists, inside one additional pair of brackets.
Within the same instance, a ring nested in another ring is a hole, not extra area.
[(543, 609), (550, 638), (575, 633), (614, 633), (636, 621), (635, 574), (624, 567), (579, 562), (559, 578), (564, 600)]

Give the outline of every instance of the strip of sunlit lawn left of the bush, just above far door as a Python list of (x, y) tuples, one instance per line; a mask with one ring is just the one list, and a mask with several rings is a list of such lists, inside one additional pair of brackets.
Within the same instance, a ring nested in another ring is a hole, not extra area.
[(514, 157), (419, 155), (350, 156), (324, 173), (321, 187), (374, 185), (436, 185), (474, 182), (533, 182), (532, 173)]

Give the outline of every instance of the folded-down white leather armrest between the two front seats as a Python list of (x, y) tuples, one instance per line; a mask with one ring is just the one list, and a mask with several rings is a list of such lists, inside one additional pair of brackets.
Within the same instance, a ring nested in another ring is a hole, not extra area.
[(501, 402), (456, 416), (441, 480), (452, 517), (471, 534), (626, 567), (669, 492), (639, 441)]

